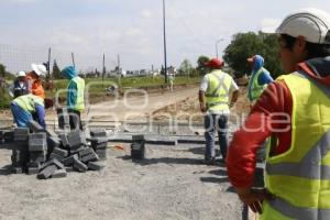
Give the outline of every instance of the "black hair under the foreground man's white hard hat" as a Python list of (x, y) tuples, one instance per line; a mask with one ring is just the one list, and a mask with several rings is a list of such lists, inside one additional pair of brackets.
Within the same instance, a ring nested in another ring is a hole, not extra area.
[[(285, 43), (285, 48), (293, 50), (296, 37), (287, 34), (280, 34)], [(330, 44), (315, 44), (306, 42), (307, 59), (330, 56)]]

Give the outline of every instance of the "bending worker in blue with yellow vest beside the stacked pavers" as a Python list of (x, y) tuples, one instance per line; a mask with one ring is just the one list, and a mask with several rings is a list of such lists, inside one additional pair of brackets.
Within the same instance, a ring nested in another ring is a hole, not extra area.
[(37, 96), (29, 94), (15, 98), (11, 102), (11, 112), (18, 127), (28, 128), (29, 121), (33, 119), (32, 114), (35, 114), (40, 125), (46, 128), (44, 99)]

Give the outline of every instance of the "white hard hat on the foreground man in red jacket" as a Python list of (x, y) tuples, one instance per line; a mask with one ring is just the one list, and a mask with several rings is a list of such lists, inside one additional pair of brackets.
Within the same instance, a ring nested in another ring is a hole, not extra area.
[(330, 14), (314, 8), (300, 9), (286, 16), (276, 33), (294, 37), (304, 36), (307, 42), (330, 44)]

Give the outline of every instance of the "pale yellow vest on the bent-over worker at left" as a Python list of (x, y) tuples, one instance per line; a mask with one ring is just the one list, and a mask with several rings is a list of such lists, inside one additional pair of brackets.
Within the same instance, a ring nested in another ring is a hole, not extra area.
[(15, 98), (13, 103), (18, 105), (21, 109), (29, 111), (29, 112), (35, 112), (35, 106), (45, 106), (44, 105), (44, 99), (34, 96), (32, 94), (25, 95), (25, 96), (20, 96)]

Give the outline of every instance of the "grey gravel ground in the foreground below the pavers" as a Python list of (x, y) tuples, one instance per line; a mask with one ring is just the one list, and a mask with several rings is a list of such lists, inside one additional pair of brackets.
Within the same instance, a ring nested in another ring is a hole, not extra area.
[(146, 158), (134, 163), (124, 145), (108, 152), (101, 172), (38, 180), (9, 174), (11, 152), (1, 150), (0, 219), (241, 219), (223, 164), (202, 165), (202, 153), (198, 145), (146, 145)]

